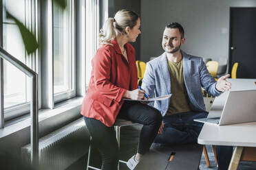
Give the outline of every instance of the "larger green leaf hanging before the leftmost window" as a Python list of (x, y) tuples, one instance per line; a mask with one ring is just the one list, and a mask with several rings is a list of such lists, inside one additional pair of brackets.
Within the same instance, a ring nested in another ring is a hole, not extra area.
[(36, 49), (39, 47), (39, 44), (36, 41), (36, 36), (34, 36), (34, 34), (32, 34), (32, 32), (30, 32), (30, 30), (26, 28), (25, 25), (23, 25), (23, 23), (21, 23), (15, 16), (10, 14), (7, 10), (6, 16), (7, 18), (12, 19), (19, 27), (19, 31), (21, 32), (21, 37), (23, 39), (23, 43), (25, 45), (27, 53), (30, 54), (36, 51)]

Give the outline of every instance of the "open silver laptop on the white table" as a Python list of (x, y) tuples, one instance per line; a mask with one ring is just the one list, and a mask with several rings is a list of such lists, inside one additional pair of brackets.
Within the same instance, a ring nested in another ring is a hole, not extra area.
[(256, 121), (256, 90), (228, 91), (220, 117), (194, 119), (202, 123), (215, 123), (217, 125), (229, 125)]

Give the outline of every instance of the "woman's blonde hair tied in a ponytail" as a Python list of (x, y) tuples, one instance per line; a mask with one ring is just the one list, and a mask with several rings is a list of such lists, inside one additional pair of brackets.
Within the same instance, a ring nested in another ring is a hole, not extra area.
[(114, 18), (109, 18), (105, 21), (103, 28), (100, 29), (99, 45), (112, 45), (111, 40), (114, 40), (118, 34), (126, 34), (125, 28), (131, 29), (137, 24), (139, 19), (138, 14), (131, 10), (119, 10)]

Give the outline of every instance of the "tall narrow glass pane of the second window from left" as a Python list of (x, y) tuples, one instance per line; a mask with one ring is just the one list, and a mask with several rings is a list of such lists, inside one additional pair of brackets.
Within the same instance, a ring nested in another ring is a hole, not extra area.
[(72, 88), (72, 35), (70, 5), (61, 9), (53, 7), (53, 36), (54, 36), (54, 94), (62, 93)]

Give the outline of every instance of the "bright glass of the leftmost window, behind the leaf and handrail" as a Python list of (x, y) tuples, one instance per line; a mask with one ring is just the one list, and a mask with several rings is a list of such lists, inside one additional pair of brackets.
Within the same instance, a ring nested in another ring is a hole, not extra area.
[[(30, 18), (31, 2), (20, 0), (3, 0), (6, 9), (26, 26), (32, 25)], [(25, 52), (23, 40), (18, 26), (14, 21), (3, 18), (3, 49), (21, 62), (32, 66), (32, 55)], [(17, 106), (28, 106), (30, 102), (30, 80), (7, 61), (3, 61), (3, 88), (5, 111), (12, 110)]]

